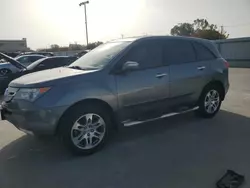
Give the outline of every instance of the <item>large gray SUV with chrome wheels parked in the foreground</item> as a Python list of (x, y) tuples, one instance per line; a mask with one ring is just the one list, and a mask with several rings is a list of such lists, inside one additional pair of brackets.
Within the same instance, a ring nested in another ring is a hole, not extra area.
[(126, 123), (190, 109), (211, 118), (228, 88), (228, 63), (212, 42), (129, 38), (12, 81), (1, 115), (24, 132), (59, 135), (73, 153), (90, 154)]

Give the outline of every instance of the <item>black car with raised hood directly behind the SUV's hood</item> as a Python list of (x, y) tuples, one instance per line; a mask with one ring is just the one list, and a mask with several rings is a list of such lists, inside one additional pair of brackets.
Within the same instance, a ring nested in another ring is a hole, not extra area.
[[(39, 59), (29, 65), (28, 67), (22, 66), (20, 63), (12, 61), (10, 57), (4, 58), (6, 61), (11, 62), (11, 64), (16, 67), (17, 71), (15, 73), (8, 73), (5, 74), (5, 76), (0, 74), (0, 93), (3, 93), (5, 89), (8, 87), (8, 84), (25, 74), (42, 71), (45, 69), (52, 69), (56, 67), (62, 67), (62, 66), (68, 66), (72, 62), (74, 62), (77, 58), (76, 57), (68, 57), (68, 56), (59, 56), (59, 57), (45, 57), (42, 59)], [(1, 65), (0, 65), (1, 66)], [(1, 70), (0, 70), (1, 71)], [(1, 73), (1, 72), (0, 72)]]

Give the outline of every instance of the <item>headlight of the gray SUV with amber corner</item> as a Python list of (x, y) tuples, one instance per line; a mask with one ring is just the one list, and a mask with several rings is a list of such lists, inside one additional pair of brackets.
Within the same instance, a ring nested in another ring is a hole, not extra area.
[(15, 95), (15, 99), (35, 101), (39, 96), (46, 93), (50, 88), (21, 88)]

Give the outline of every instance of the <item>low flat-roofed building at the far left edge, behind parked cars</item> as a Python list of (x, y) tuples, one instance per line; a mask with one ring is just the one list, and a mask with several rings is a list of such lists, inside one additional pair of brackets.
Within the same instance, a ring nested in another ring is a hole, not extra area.
[(0, 40), (0, 52), (18, 52), (29, 51), (27, 40)]

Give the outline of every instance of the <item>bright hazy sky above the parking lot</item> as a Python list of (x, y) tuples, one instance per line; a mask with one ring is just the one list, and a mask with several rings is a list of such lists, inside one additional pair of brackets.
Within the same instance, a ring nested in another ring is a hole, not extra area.
[[(83, 0), (84, 1), (84, 0)], [(86, 44), (81, 0), (0, 0), (0, 40), (27, 38), (31, 49)], [(89, 41), (169, 35), (178, 23), (205, 18), (230, 38), (250, 37), (250, 0), (89, 0)]]

